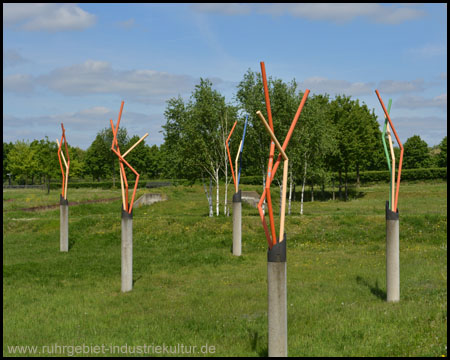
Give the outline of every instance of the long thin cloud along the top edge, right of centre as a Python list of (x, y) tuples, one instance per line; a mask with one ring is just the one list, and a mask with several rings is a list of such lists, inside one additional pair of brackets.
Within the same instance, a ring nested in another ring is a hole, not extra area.
[(381, 5), (375, 3), (270, 3), (270, 4), (196, 4), (198, 12), (222, 15), (249, 13), (273, 16), (291, 15), (309, 20), (326, 20), (337, 23), (365, 17), (375, 23), (399, 24), (424, 16), (425, 12), (414, 5)]

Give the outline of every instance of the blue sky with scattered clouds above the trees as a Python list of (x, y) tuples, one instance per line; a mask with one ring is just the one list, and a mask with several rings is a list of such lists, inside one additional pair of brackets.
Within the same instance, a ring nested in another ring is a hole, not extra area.
[(402, 143), (447, 135), (445, 3), (3, 3), (3, 141), (55, 141), (63, 123), (87, 149), (124, 101), (120, 126), (160, 145), (168, 99), (208, 78), (235, 104), (261, 61), (299, 90), (359, 99), (382, 130), (377, 89)]

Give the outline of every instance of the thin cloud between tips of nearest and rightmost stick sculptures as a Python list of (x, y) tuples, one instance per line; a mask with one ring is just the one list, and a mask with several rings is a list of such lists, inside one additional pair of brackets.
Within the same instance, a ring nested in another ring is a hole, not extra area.
[(307, 88), (312, 93), (330, 95), (345, 94), (347, 96), (367, 95), (373, 91), (374, 83), (349, 82), (346, 80), (311, 77), (300, 83), (301, 88)]

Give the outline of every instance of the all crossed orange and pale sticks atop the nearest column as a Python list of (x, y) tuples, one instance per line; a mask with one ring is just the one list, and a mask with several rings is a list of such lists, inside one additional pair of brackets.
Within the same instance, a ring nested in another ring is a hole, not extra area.
[[(266, 70), (265, 70), (265, 66), (264, 66), (264, 62), (261, 62), (261, 74), (262, 74), (262, 78), (263, 78), (263, 85), (264, 85), (264, 96), (266, 99), (266, 109), (267, 109), (267, 115), (269, 117), (269, 124), (267, 124), (267, 122), (265, 121), (264, 117), (262, 116), (261, 112), (258, 111), (257, 115), (260, 117), (260, 119), (263, 121), (264, 126), (266, 127), (266, 129), (268, 130), (270, 136), (271, 136), (271, 143), (270, 143), (270, 152), (269, 152), (269, 165), (267, 167), (267, 178), (266, 178), (266, 186), (264, 188), (264, 191), (261, 195), (261, 199), (259, 200), (258, 203), (258, 211), (259, 211), (259, 216), (261, 217), (261, 221), (263, 223), (263, 227), (264, 227), (264, 232), (266, 234), (266, 238), (267, 238), (267, 243), (269, 245), (269, 249), (272, 249), (272, 246), (275, 245), (277, 243), (277, 237), (276, 237), (276, 233), (275, 233), (275, 222), (273, 219), (273, 209), (272, 209), (272, 199), (270, 196), (270, 184), (272, 183), (272, 180), (275, 176), (275, 173), (278, 169), (278, 166), (280, 164), (281, 161), (281, 157), (284, 158), (284, 171), (283, 171), (283, 198), (282, 198), (282, 213), (280, 216), (280, 242), (283, 241), (283, 237), (284, 237), (284, 206), (285, 202), (286, 202), (286, 186), (287, 186), (287, 162), (288, 162), (288, 158), (285, 154), (286, 151), (286, 147), (289, 143), (289, 140), (291, 139), (292, 133), (294, 131), (295, 125), (297, 124), (297, 120), (300, 116), (300, 113), (302, 112), (303, 106), (305, 105), (306, 99), (308, 98), (309, 95), (309, 89), (306, 89), (305, 93), (303, 94), (303, 98), (300, 102), (300, 105), (297, 109), (297, 112), (294, 116), (294, 119), (292, 120), (291, 126), (289, 128), (289, 131), (286, 135), (286, 138), (284, 139), (284, 143), (283, 146), (280, 146), (279, 142), (277, 141), (275, 134), (273, 132), (273, 121), (272, 121), (272, 111), (270, 108), (270, 98), (269, 98), (269, 88), (267, 86), (267, 78), (266, 78)], [(270, 131), (269, 131), (270, 130)], [(274, 152), (275, 152), (275, 145), (277, 146), (278, 150), (280, 151), (280, 154), (278, 155), (278, 158), (275, 162), (275, 165), (273, 165), (273, 157), (274, 157)], [(268, 208), (268, 212), (269, 212), (269, 221), (270, 221), (270, 230), (271, 230), (271, 234), (269, 233), (269, 229), (267, 227), (267, 223), (266, 223), (266, 219), (264, 217), (264, 213), (262, 210), (262, 204), (265, 200), (267, 196), (267, 208)], [(272, 235), (272, 239), (271, 239), (271, 235)]]

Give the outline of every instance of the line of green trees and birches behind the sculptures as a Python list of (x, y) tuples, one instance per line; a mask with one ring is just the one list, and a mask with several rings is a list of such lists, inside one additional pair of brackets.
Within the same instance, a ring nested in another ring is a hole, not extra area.
[[(282, 142), (303, 96), (295, 80), (288, 83), (269, 77), (274, 132)], [(256, 112), (267, 119), (263, 83), (259, 73), (250, 69), (237, 85), (232, 102), (227, 102), (213, 89), (209, 79), (200, 79), (188, 100), (180, 96), (167, 101), (163, 125), (164, 142), (148, 146), (141, 142), (127, 156), (127, 161), (143, 178), (173, 178), (201, 181), (205, 190), (210, 216), (219, 210), (219, 183), (231, 182), (225, 140), (237, 121), (230, 140), (230, 151), (236, 154), (248, 115), (248, 127), (242, 157), (241, 176), (261, 177), (264, 185), (270, 138)], [(383, 120), (384, 121), (384, 120)], [(382, 133), (374, 109), (350, 96), (310, 94), (294, 130), (287, 155), (289, 157), (289, 198), (295, 184), (318, 186), (333, 183), (347, 198), (348, 174), (367, 170), (386, 170)], [(129, 136), (126, 128), (119, 129), (118, 142), (125, 152), (139, 137)], [(119, 180), (117, 157), (110, 150), (111, 128), (99, 131), (87, 150), (69, 144), (70, 178), (100, 181)], [(404, 169), (446, 167), (447, 137), (435, 147), (414, 135), (404, 146)], [(398, 163), (399, 149), (394, 148)], [(233, 155), (233, 162), (234, 162)], [(8, 175), (9, 174), (9, 175)], [(336, 174), (336, 176), (333, 176)], [(274, 184), (281, 186), (281, 172)], [(43, 140), (3, 143), (3, 181), (12, 177), (18, 183), (50, 184), (61, 177), (56, 142)], [(215, 195), (213, 195), (213, 186)], [(225, 187), (225, 199), (228, 187)], [(224, 212), (227, 202), (224, 201)]]

